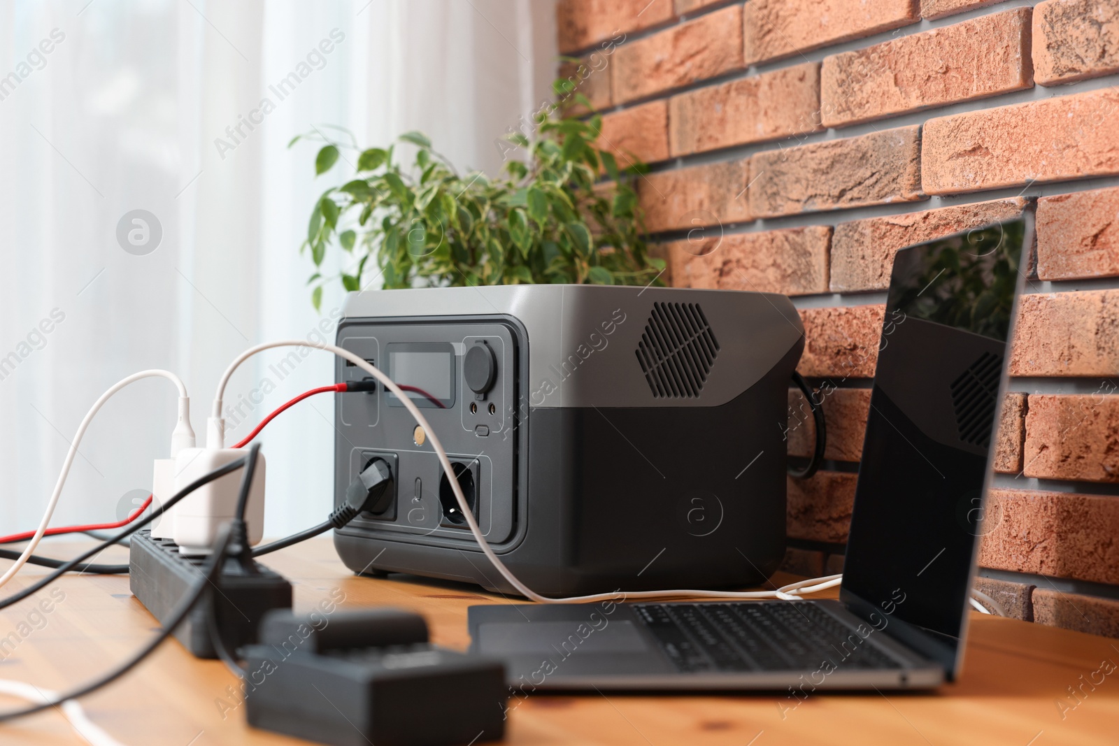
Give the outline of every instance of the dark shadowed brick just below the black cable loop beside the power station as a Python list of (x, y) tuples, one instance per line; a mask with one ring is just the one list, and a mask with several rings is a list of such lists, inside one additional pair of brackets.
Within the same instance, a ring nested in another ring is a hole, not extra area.
[(788, 478), (786, 532), (793, 539), (843, 544), (850, 530), (856, 474), (818, 471), (807, 480)]

